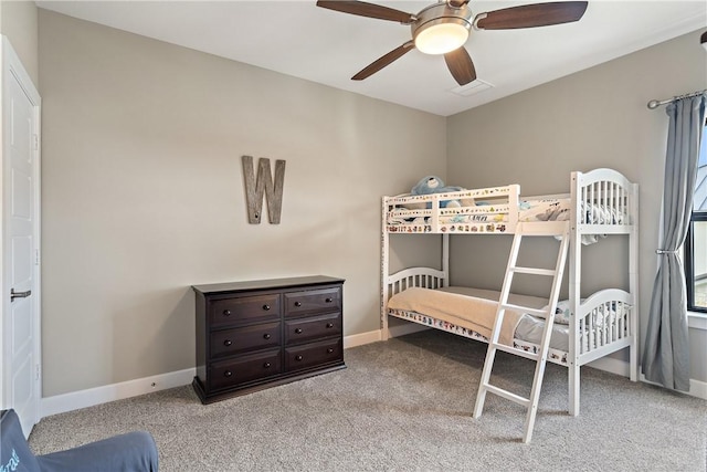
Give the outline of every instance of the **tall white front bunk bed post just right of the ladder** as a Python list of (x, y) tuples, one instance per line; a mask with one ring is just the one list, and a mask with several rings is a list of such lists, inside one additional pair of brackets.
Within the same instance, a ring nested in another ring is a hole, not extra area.
[(571, 416), (579, 415), (579, 385), (580, 385), (580, 280), (582, 273), (582, 243), (578, 231), (578, 225), (582, 224), (582, 200), (583, 186), (581, 172), (572, 172), (570, 181), (570, 204), (572, 208), (572, 220), (570, 221), (570, 280), (569, 280), (569, 298), (570, 298), (570, 333), (569, 333), (569, 353), (567, 357), (568, 388), (569, 388), (569, 408)]

